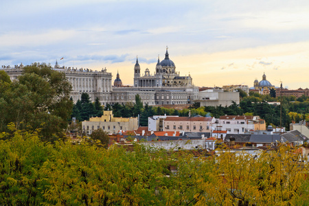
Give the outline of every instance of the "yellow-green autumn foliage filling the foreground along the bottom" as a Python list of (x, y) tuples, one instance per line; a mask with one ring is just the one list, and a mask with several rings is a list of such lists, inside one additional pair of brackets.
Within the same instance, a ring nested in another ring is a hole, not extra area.
[[(306, 205), (308, 167), (288, 146), (249, 155), (44, 144), (0, 134), (0, 205)], [(300, 160), (300, 161), (298, 161)]]

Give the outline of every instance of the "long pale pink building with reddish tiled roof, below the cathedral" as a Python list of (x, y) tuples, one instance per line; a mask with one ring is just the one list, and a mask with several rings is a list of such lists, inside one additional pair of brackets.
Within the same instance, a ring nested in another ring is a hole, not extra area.
[(163, 131), (210, 133), (214, 117), (166, 117), (163, 120)]

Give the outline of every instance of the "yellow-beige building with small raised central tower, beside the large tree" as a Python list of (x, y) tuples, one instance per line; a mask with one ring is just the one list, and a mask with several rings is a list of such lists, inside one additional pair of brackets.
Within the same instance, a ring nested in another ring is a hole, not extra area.
[(119, 130), (137, 130), (137, 117), (114, 117), (113, 111), (104, 111), (102, 117), (91, 117), (89, 121), (82, 122), (82, 131), (87, 135), (99, 128), (108, 134), (116, 134)]

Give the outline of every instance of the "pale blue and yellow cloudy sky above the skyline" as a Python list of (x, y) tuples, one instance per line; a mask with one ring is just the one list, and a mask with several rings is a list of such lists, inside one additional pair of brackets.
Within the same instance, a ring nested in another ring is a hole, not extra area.
[(0, 65), (106, 67), (132, 85), (137, 56), (154, 73), (168, 46), (176, 71), (199, 87), (253, 87), (265, 73), (276, 87), (304, 89), (308, 11), (308, 0), (4, 0)]

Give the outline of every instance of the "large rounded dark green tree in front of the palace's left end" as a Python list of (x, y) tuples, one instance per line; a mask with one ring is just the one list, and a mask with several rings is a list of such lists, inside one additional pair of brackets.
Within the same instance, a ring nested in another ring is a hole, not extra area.
[(47, 141), (63, 137), (73, 108), (65, 73), (34, 63), (24, 68), (19, 81), (0, 84), (0, 91), (1, 131), (8, 131), (8, 124), (14, 122), (19, 129), (41, 128)]

